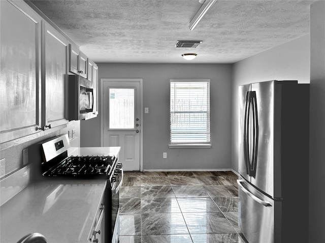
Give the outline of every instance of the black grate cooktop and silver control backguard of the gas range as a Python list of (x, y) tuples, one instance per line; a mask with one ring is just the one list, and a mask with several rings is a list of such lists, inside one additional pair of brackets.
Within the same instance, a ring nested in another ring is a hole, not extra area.
[[(105, 148), (89, 148), (87, 153), (103, 152), (103, 154), (87, 154), (68, 156), (71, 148), (68, 135), (60, 135), (43, 141), (41, 144), (43, 161), (41, 164), (44, 177), (60, 177), (64, 179), (106, 179), (111, 186), (118, 181), (117, 176), (122, 165), (116, 156), (104, 153)], [(85, 154), (85, 151), (83, 151)]]

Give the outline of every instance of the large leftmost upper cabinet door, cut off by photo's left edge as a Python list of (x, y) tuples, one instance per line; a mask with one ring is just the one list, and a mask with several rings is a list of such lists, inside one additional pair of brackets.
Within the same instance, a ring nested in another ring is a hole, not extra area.
[(41, 128), (41, 18), (23, 2), (0, 5), (3, 143)]

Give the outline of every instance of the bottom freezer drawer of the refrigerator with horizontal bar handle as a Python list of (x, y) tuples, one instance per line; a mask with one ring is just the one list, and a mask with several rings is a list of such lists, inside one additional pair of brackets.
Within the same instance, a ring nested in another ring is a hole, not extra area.
[[(281, 203), (257, 191), (245, 180), (238, 180), (237, 183), (240, 198), (238, 219), (247, 241), (249, 243), (280, 242), (281, 220), (278, 220), (276, 211), (281, 211)], [(277, 229), (274, 228), (275, 220)]]

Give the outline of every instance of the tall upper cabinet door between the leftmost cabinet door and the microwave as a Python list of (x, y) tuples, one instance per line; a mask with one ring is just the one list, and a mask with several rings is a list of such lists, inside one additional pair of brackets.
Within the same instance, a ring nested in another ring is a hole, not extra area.
[(67, 117), (68, 40), (42, 22), (42, 126), (53, 128)]

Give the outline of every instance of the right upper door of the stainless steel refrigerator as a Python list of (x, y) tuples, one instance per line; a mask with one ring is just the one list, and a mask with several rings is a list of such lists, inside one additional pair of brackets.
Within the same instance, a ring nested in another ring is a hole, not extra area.
[[(272, 198), (281, 197), (281, 191), (274, 194), (274, 185), (280, 184), (281, 171), (274, 174), (274, 163), (279, 162), (274, 157), (274, 112), (275, 103), (281, 102), (281, 97), (276, 97), (276, 81), (255, 83), (251, 85), (251, 91), (256, 95), (256, 118), (258, 123), (258, 138), (256, 146), (256, 172), (250, 182)], [(280, 131), (278, 131), (280, 132)], [(280, 146), (280, 144), (277, 144)]]

